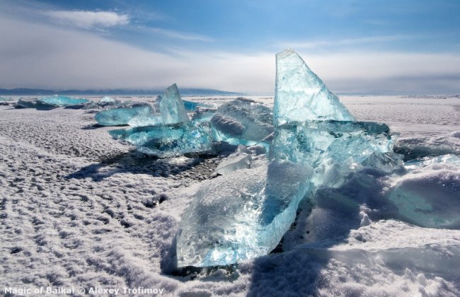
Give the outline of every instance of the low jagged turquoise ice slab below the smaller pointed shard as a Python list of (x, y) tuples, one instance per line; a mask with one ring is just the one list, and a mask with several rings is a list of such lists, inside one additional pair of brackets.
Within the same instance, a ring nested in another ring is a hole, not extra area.
[(205, 153), (211, 150), (212, 144), (209, 124), (192, 122), (118, 129), (109, 133), (115, 139), (136, 146), (137, 151), (158, 158)]

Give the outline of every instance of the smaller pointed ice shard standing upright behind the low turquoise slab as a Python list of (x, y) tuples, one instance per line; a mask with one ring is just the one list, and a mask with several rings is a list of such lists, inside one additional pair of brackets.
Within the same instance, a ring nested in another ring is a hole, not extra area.
[(168, 86), (163, 95), (161, 95), (160, 112), (165, 124), (176, 124), (190, 121), (187, 111), (185, 111), (182, 98), (180, 98), (176, 83), (172, 86)]

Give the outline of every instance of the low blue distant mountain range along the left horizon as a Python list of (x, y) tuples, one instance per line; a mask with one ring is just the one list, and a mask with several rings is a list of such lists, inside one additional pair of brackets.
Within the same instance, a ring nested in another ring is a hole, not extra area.
[[(229, 95), (241, 96), (244, 93), (227, 92), (214, 90), (212, 88), (180, 88), (180, 95), (199, 96), (199, 95)], [(46, 90), (42, 88), (0, 88), (0, 95), (160, 95), (161, 90), (142, 90), (142, 89), (105, 89), (105, 90)]]

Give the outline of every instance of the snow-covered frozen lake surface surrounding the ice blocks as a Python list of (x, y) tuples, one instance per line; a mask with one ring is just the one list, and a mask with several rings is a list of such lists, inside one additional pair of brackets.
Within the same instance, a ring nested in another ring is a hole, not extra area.
[[(270, 97), (251, 98), (273, 105)], [(184, 99), (220, 105), (234, 98)], [(397, 149), (408, 159), (427, 152), (460, 154), (460, 98), (341, 100), (357, 120), (384, 122), (400, 132)], [(97, 286), (163, 289), (174, 296), (460, 295), (460, 231), (386, 219), (386, 206), (378, 203), (401, 183), (444, 182), (452, 194), (447, 206), (459, 209), (458, 168), (427, 166), (377, 179), (372, 192), (357, 193), (372, 207), (360, 207), (361, 223), (354, 228), (344, 230), (350, 224), (341, 221), (346, 215), (333, 216), (338, 211), (333, 203), (314, 211), (303, 205), (272, 254), (232, 267), (177, 270), (171, 263), (181, 216), (222, 157), (145, 157), (112, 139), (107, 132), (116, 127), (93, 127), (93, 117), (88, 110), (0, 106), (2, 290)], [(337, 221), (314, 221), (320, 213)]]

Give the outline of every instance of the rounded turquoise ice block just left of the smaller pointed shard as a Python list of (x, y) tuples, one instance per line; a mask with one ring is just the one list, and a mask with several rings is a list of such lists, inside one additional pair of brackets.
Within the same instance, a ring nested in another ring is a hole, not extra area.
[(128, 124), (133, 117), (150, 115), (152, 110), (149, 103), (125, 102), (98, 112), (94, 118), (103, 126), (120, 126)]

